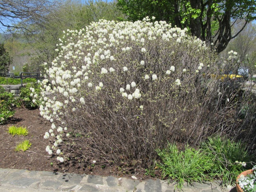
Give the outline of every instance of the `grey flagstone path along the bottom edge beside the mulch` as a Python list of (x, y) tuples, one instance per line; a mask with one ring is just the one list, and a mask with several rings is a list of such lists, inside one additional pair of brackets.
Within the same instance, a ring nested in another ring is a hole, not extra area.
[[(174, 192), (174, 184), (163, 180), (138, 181), (127, 178), (45, 171), (0, 169), (0, 192)], [(184, 186), (184, 192), (228, 192), (220, 181)], [(236, 192), (233, 188), (230, 192)]]

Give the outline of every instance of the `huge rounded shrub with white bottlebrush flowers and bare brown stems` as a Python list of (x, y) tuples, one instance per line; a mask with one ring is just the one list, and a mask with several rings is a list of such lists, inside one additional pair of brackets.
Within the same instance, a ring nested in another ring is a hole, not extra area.
[[(148, 166), (166, 141), (197, 144), (221, 129), (218, 116), (232, 86), (219, 79), (223, 61), (186, 31), (150, 18), (64, 31), (58, 57), (45, 63), (40, 114), (52, 122), (47, 152), (60, 149), (63, 162), (69, 133), (79, 132), (76, 140), (105, 159)], [(231, 55), (226, 66), (236, 61)]]

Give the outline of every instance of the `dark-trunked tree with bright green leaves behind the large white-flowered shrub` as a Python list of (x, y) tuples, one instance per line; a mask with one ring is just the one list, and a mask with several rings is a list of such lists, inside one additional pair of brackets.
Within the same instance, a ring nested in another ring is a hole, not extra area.
[[(254, 0), (118, 0), (118, 6), (132, 21), (154, 16), (179, 28), (189, 28), (192, 35), (222, 52), (250, 21), (256, 19)], [(232, 26), (244, 20), (235, 34)]]

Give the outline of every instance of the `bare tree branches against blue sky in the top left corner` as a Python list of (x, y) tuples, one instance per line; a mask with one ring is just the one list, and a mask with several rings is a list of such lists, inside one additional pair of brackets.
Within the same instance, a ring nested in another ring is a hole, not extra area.
[(63, 0), (0, 0), (0, 29), (7, 27), (27, 30), (27, 26), (47, 20), (47, 16)]

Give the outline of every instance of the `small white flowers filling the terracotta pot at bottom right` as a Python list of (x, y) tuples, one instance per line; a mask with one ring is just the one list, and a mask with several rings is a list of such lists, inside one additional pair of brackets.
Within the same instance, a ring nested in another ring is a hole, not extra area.
[(252, 174), (240, 176), (238, 184), (244, 192), (256, 191), (256, 165), (252, 168)]

